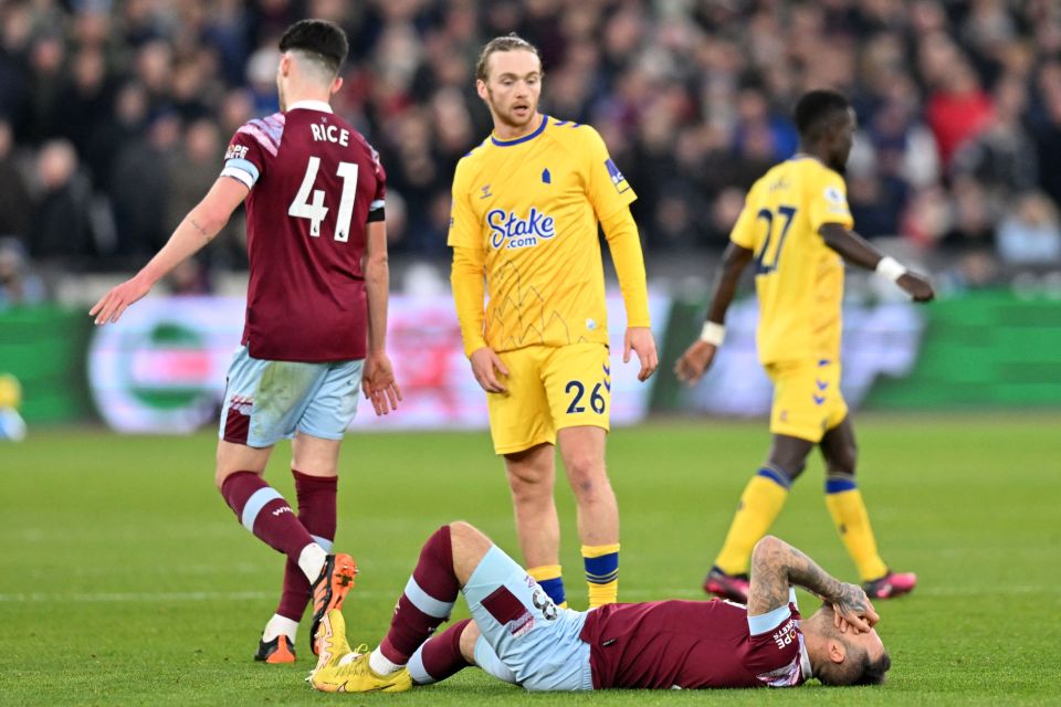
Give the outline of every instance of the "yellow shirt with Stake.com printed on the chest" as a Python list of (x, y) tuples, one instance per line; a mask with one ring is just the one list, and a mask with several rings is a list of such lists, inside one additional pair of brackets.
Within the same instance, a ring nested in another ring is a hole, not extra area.
[(492, 135), (465, 155), (448, 242), (484, 255), (487, 346), (608, 344), (597, 223), (635, 198), (588, 125), (543, 116), (534, 133)]

